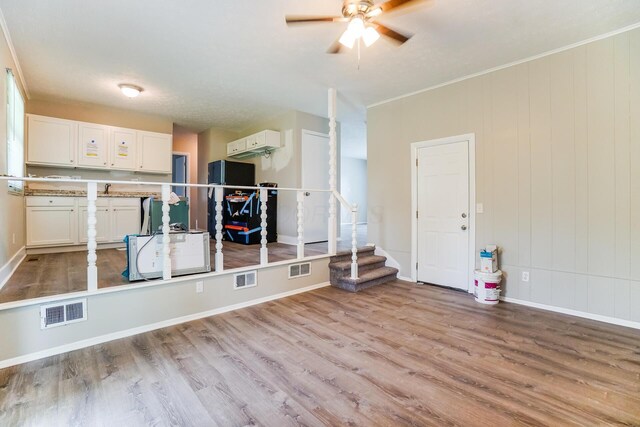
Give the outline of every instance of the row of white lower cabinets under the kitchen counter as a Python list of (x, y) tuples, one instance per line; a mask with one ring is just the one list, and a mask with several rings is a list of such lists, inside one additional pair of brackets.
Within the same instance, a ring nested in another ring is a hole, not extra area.
[[(27, 246), (87, 243), (87, 199), (84, 197), (25, 197)], [(122, 242), (140, 232), (140, 199), (100, 197), (96, 201), (96, 242)]]

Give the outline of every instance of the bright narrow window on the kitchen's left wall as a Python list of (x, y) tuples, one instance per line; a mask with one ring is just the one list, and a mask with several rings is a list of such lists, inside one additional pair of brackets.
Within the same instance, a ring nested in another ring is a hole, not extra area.
[[(7, 69), (7, 175), (24, 176), (24, 100)], [(9, 181), (10, 193), (22, 193), (23, 181)]]

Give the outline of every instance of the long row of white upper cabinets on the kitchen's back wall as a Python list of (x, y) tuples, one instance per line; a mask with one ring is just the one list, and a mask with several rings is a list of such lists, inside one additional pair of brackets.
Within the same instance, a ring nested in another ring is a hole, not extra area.
[(28, 164), (171, 173), (171, 134), (27, 116)]

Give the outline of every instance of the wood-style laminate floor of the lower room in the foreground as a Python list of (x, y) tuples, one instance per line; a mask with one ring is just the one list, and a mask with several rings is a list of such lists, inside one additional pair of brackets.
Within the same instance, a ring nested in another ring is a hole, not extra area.
[(0, 370), (0, 425), (640, 425), (640, 331), (322, 288)]

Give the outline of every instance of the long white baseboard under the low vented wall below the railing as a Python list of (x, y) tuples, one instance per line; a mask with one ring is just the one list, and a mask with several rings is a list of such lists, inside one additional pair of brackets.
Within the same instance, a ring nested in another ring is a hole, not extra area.
[(262, 298), (256, 298), (256, 299), (241, 302), (238, 304), (215, 308), (213, 310), (189, 314), (187, 316), (176, 317), (173, 319), (163, 320), (161, 322), (151, 323), (149, 325), (139, 326), (137, 328), (126, 329), (124, 331), (113, 332), (110, 334), (101, 335), (99, 337), (76, 341), (74, 343), (65, 344), (65, 345), (61, 345), (53, 348), (48, 348), (46, 350), (37, 351), (35, 353), (25, 354), (24, 356), (18, 356), (18, 357), (13, 357), (11, 359), (0, 360), (0, 369), (7, 368), (9, 366), (20, 365), (22, 363), (32, 362), (34, 360), (43, 359), (49, 356), (55, 356), (57, 354), (67, 353), (69, 351), (79, 350), (85, 347), (91, 347), (92, 345), (102, 344), (102, 343), (117, 340), (120, 338), (130, 337), (132, 335), (138, 335), (144, 332), (149, 332), (149, 331), (153, 331), (160, 328), (166, 328), (168, 326), (178, 325), (180, 323), (190, 322), (192, 320), (202, 319), (203, 317), (215, 316), (217, 314), (222, 314), (222, 313), (238, 310), (245, 307), (250, 307), (252, 305), (262, 304), (264, 302), (273, 301), (280, 298), (286, 298), (292, 295), (309, 292), (314, 289), (324, 288), (329, 285), (330, 285), (329, 282), (318, 283), (315, 285), (306, 286), (304, 288), (294, 289), (292, 291), (281, 292), (279, 294), (269, 295)]

